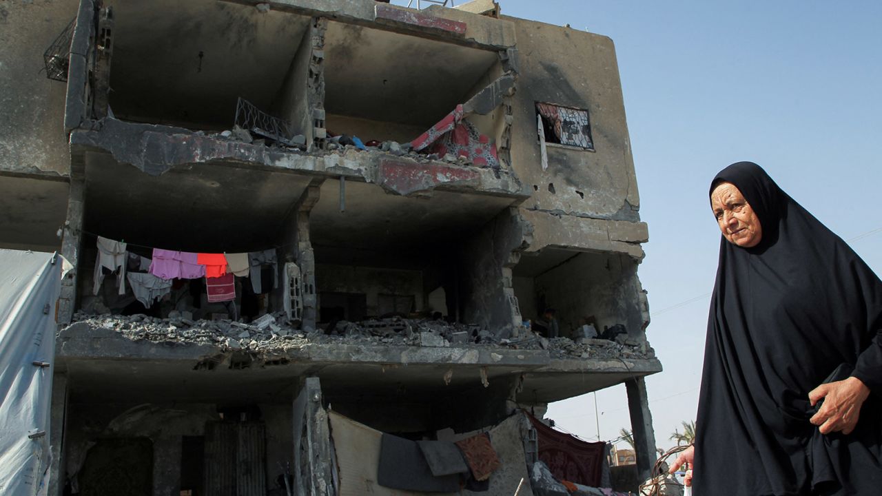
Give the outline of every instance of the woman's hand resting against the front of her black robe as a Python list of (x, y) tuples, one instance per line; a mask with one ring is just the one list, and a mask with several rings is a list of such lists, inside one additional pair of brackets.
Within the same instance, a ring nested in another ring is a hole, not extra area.
[(870, 388), (856, 377), (821, 384), (811, 390), (809, 400), (811, 406), (822, 399), (824, 404), (809, 421), (818, 425), (822, 434), (840, 431), (850, 434), (855, 430), (861, 406), (869, 395)]

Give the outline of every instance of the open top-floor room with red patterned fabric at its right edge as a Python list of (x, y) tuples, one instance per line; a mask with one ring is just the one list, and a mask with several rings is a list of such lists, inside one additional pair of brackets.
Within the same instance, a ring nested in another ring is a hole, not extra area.
[(499, 75), (496, 51), (332, 21), (325, 32), (325, 125), (365, 143), (408, 142)]

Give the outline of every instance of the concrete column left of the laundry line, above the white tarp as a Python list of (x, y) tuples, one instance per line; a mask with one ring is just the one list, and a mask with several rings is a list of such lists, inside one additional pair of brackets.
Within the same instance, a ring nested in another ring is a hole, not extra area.
[(71, 177), (71, 194), (67, 200), (67, 219), (61, 241), (61, 254), (71, 262), (73, 270), (64, 276), (61, 293), (58, 297), (58, 323), (69, 324), (77, 301), (77, 281), (79, 273), (79, 253), (83, 231), (83, 203), (86, 190), (85, 181)]

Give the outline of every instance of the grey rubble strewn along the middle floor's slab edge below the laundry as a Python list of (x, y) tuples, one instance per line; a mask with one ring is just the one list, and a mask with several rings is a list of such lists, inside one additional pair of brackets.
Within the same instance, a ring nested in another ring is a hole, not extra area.
[(437, 319), (368, 319), (362, 322), (340, 320), (327, 331), (299, 329), (298, 322), (285, 312), (266, 314), (250, 323), (242, 321), (194, 320), (190, 312), (171, 312), (168, 319), (137, 315), (93, 315), (77, 312), (74, 322), (105, 328), (132, 341), (206, 344), (224, 350), (279, 352), (306, 344), (361, 344), (375, 346), (463, 347), (499, 346), (511, 349), (545, 349), (553, 357), (637, 358), (654, 357), (647, 342), (619, 336), (620, 342), (561, 337), (546, 339), (525, 328), (501, 338), (475, 325), (449, 323)]

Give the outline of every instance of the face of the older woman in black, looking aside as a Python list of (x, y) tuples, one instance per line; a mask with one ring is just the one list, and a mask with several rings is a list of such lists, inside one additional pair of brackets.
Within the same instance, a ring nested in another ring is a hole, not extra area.
[(729, 243), (742, 248), (759, 244), (763, 237), (759, 217), (735, 184), (721, 183), (714, 188), (714, 192), (711, 192), (711, 209), (720, 224), (722, 236)]

